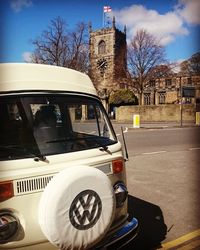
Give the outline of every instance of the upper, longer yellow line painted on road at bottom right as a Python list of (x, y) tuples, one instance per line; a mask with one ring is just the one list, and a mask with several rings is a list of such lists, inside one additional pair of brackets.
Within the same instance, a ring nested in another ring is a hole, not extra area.
[(191, 233), (188, 233), (186, 235), (183, 235), (183, 236), (179, 237), (176, 240), (172, 240), (172, 241), (163, 243), (162, 248), (167, 250), (167, 249), (170, 249), (172, 247), (176, 247), (176, 246), (178, 246), (178, 245), (180, 245), (180, 244), (182, 244), (182, 243), (184, 243), (186, 241), (189, 241), (189, 240), (191, 240), (193, 238), (196, 238), (198, 236), (200, 236), (200, 229), (196, 230), (196, 231), (193, 231)]

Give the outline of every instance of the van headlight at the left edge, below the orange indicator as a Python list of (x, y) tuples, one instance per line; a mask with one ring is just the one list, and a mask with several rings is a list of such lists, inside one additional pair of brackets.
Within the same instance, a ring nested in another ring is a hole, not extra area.
[(13, 238), (19, 229), (19, 220), (11, 211), (0, 212), (0, 244)]

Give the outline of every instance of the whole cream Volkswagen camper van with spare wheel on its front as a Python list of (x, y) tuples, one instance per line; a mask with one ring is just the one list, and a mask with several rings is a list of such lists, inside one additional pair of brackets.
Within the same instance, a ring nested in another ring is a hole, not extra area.
[(138, 228), (125, 172), (87, 75), (0, 65), (0, 249), (120, 248)]

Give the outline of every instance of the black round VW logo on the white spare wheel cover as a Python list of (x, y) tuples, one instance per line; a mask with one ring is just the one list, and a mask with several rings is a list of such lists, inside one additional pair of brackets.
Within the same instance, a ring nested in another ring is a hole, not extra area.
[(84, 190), (72, 201), (69, 218), (71, 224), (79, 230), (93, 227), (102, 211), (99, 195), (93, 190)]

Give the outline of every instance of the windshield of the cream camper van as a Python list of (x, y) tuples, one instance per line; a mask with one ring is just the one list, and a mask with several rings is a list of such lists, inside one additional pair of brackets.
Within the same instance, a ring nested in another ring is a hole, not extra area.
[(98, 99), (71, 94), (0, 97), (0, 160), (105, 148), (116, 142)]

